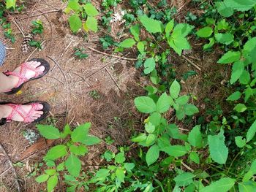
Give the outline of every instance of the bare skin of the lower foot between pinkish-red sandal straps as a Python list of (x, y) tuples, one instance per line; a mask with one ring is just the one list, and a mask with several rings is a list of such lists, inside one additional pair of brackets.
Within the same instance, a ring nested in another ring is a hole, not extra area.
[[(24, 105), (21, 105), (21, 108), (24, 110), (24, 112), (26, 113), (29, 113), (29, 111), (31, 110), (31, 105), (28, 104), (24, 104)], [(43, 114), (42, 110), (43, 106), (42, 104), (39, 104), (38, 105), (38, 109), (37, 110), (34, 110), (31, 114), (31, 117), (29, 118), (29, 121), (30, 122), (33, 122), (34, 120), (37, 120), (38, 118), (41, 117), (41, 115)], [(11, 112), (12, 112), (12, 107), (10, 107), (9, 105), (7, 104), (1, 104), (0, 105), (0, 112), (3, 114), (3, 117), (2, 118), (7, 118)], [(15, 115), (12, 117), (12, 120), (15, 120), (15, 121), (24, 121), (23, 117), (21, 117), (18, 113), (15, 113)]]

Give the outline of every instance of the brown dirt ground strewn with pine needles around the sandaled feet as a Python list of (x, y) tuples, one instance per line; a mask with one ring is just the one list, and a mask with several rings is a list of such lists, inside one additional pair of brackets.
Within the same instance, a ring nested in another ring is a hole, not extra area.
[[(132, 128), (136, 128), (137, 124), (140, 125), (138, 123), (140, 117), (135, 118), (137, 114), (132, 107), (132, 101), (135, 96), (143, 94), (143, 84), (148, 83), (134, 68), (134, 61), (95, 52), (93, 49), (103, 51), (99, 45), (99, 34), (89, 34), (86, 41), (79, 34), (72, 35), (67, 26), (67, 15), (62, 15), (59, 11), (65, 8), (65, 4), (61, 1), (29, 2), (31, 2), (29, 8), (22, 14), (10, 16), (16, 38), (15, 44), (4, 38), (3, 31), (0, 31), (0, 37), (7, 47), (7, 59), (1, 67), (1, 72), (15, 69), (29, 58), (45, 58), (50, 63), (51, 69), (42, 79), (27, 83), (20, 93), (13, 96), (1, 94), (0, 101), (16, 103), (48, 101), (51, 106), (48, 121), (54, 120), (56, 127), (61, 129), (65, 123), (74, 127), (90, 121), (91, 134), (102, 139), (110, 136), (115, 140), (111, 150), (116, 150), (118, 145), (128, 144)], [(97, 6), (100, 4), (99, 1), (93, 3)], [(43, 49), (31, 48), (27, 55), (23, 55), (20, 50), (23, 34), (20, 31), (27, 34), (31, 30), (31, 21), (37, 19), (42, 20), (45, 28), (42, 36), (37, 36), (37, 39), (43, 42)], [(116, 34), (112, 35), (116, 36)], [(202, 52), (197, 52), (199, 48), (196, 46), (193, 47), (195, 51), (189, 53), (187, 58), (196, 62), (202, 71), (198, 71), (196, 78), (193, 77), (188, 85), (184, 85), (184, 93), (192, 93), (195, 96), (198, 93), (200, 95), (202, 77), (199, 74), (203, 74), (208, 70), (208, 66), (214, 64), (211, 55), (206, 55), (208, 58), (206, 65), (203, 62)], [(81, 61), (76, 59), (73, 55), (74, 47), (85, 48), (89, 58)], [(126, 53), (125, 57), (135, 58), (135, 55)], [(195, 69), (186, 59), (173, 59), (173, 64), (178, 66), (178, 72)], [(218, 81), (222, 79), (221, 76)], [(97, 91), (99, 99), (90, 96), (91, 91)], [(197, 107), (200, 107), (200, 103)], [(115, 120), (116, 118), (118, 120)], [(130, 119), (138, 119), (138, 121)], [(22, 168), (15, 167), (23, 191), (40, 191), (45, 185), (37, 184), (34, 177), (29, 178), (28, 174), (33, 171), (36, 162), (42, 161), (47, 146), (44, 139), (39, 139), (35, 145), (29, 145), (22, 134), (26, 129), (36, 130), (34, 124), (7, 123), (0, 128), (0, 142), (13, 163), (22, 162), (25, 165)], [(53, 145), (52, 142), (48, 142), (48, 147), (50, 145)], [(99, 155), (106, 147), (109, 146), (105, 142), (97, 147), (91, 147), (89, 155), (86, 155), (83, 162), (85, 169), (101, 163)], [(6, 155), (0, 153), (0, 191), (15, 191), (16, 188), (15, 175), (8, 162)]]

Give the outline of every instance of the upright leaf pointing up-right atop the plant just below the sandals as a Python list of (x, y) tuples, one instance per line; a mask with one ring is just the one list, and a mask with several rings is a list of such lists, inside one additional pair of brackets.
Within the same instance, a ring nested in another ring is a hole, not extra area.
[(91, 123), (85, 123), (75, 128), (71, 134), (72, 142), (84, 142), (90, 127)]

